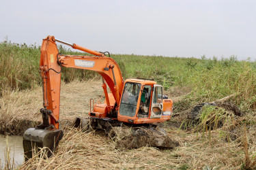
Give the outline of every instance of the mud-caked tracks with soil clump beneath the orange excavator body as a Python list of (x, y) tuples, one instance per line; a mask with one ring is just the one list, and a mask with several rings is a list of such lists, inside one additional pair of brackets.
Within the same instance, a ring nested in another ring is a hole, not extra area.
[(101, 130), (116, 141), (117, 148), (141, 148), (143, 146), (170, 149), (179, 146), (164, 129), (156, 124), (128, 124), (111, 118), (76, 118), (74, 126), (84, 131)]

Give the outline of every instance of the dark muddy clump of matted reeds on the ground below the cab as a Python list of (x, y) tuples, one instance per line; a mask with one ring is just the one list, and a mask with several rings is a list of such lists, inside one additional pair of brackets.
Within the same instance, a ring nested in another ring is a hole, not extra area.
[(143, 146), (175, 148), (179, 146), (179, 143), (173, 141), (163, 129), (113, 127), (110, 135), (115, 136), (117, 148), (131, 149)]

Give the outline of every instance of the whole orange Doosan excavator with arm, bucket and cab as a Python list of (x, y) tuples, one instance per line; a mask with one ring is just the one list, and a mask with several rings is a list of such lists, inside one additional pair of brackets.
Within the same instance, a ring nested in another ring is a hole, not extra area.
[[(56, 42), (91, 55), (60, 54)], [(127, 79), (124, 82), (119, 66), (110, 55), (106, 56), (106, 53), (68, 44), (53, 36), (43, 39), (40, 56), (44, 105), (44, 108), (40, 109), (42, 124), (27, 129), (23, 135), (23, 148), (27, 158), (32, 157), (34, 147), (48, 148), (51, 150), (48, 156), (51, 156), (63, 137), (63, 131), (59, 130), (61, 67), (92, 70), (102, 76), (104, 103), (96, 103), (89, 112), (91, 125), (98, 129), (106, 130), (113, 124), (139, 126), (170, 120), (173, 101), (162, 94), (162, 86), (154, 80), (139, 78)]]

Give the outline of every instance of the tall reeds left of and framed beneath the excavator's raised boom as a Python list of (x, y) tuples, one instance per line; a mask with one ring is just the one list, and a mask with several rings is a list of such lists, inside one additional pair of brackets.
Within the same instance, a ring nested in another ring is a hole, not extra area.
[[(71, 52), (59, 46), (63, 54), (81, 54)], [(5, 88), (23, 90), (41, 84), (39, 73), (40, 47), (26, 44), (10, 44), (6, 41), (0, 44), (0, 91)], [(94, 78), (97, 73), (78, 69), (63, 68), (61, 76), (64, 82), (74, 79), (87, 80)]]

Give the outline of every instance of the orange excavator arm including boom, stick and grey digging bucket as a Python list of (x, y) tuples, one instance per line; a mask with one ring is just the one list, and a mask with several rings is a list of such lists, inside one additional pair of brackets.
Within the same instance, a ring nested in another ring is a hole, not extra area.
[[(71, 46), (74, 49), (87, 52), (94, 56), (74, 56), (59, 54), (56, 41)], [(96, 52), (83, 48), (76, 44), (68, 44), (66, 42), (48, 36), (42, 41), (40, 56), (40, 74), (43, 82), (43, 105), (40, 109), (43, 122), (35, 129), (27, 129), (23, 135), (23, 148), (27, 158), (32, 157), (31, 143), (35, 146), (47, 146), (52, 152), (57, 143), (63, 136), (63, 132), (59, 129), (59, 103), (61, 88), (61, 67), (72, 67), (77, 69), (87, 69), (96, 71), (102, 75), (103, 89), (106, 97), (106, 103), (109, 106), (109, 97), (106, 92), (106, 84), (108, 84), (111, 93), (119, 106), (120, 97), (124, 87), (124, 80), (119, 66), (113, 58), (105, 56), (102, 52)], [(106, 84), (104, 83), (106, 82)], [(47, 139), (46, 139), (47, 138)], [(46, 144), (47, 143), (47, 144)], [(49, 144), (51, 143), (51, 144)], [(51, 152), (48, 152), (48, 156)]]

